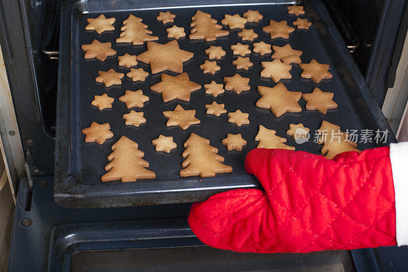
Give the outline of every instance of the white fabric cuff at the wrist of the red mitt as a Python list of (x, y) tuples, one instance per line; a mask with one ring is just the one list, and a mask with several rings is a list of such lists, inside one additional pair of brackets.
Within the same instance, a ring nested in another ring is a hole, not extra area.
[(390, 144), (395, 191), (395, 234), (398, 245), (408, 245), (408, 142)]

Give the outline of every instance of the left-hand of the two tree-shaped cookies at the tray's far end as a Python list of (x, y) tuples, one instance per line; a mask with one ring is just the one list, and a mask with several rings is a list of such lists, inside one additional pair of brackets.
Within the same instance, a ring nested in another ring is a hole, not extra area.
[(123, 21), (123, 27), (120, 29), (120, 37), (116, 42), (131, 42), (134, 45), (143, 44), (144, 41), (156, 41), (159, 38), (150, 36), (152, 32), (147, 30), (147, 25), (142, 23), (142, 19), (132, 14)]

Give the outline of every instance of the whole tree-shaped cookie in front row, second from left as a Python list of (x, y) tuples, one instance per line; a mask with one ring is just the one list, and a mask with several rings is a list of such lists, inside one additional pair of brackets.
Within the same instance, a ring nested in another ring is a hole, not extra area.
[(214, 177), (217, 173), (230, 173), (233, 167), (222, 164), (224, 158), (218, 154), (218, 149), (210, 145), (210, 141), (191, 133), (184, 143), (183, 167), (180, 177)]

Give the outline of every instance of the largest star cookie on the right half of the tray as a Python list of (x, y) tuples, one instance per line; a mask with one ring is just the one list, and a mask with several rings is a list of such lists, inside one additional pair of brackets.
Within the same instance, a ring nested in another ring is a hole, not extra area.
[(272, 88), (258, 86), (258, 92), (262, 97), (257, 101), (257, 107), (270, 109), (276, 117), (281, 116), (285, 112), (302, 111), (298, 104), (302, 93), (288, 91), (282, 82), (279, 82)]

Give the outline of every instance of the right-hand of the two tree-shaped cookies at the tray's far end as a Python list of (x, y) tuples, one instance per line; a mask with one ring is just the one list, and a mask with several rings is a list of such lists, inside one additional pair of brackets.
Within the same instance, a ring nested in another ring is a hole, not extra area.
[(229, 31), (221, 30), (222, 26), (217, 24), (217, 20), (212, 19), (208, 13), (197, 10), (191, 19), (193, 20), (190, 24), (192, 29), (189, 38), (191, 40), (215, 41), (217, 37), (230, 34)]

